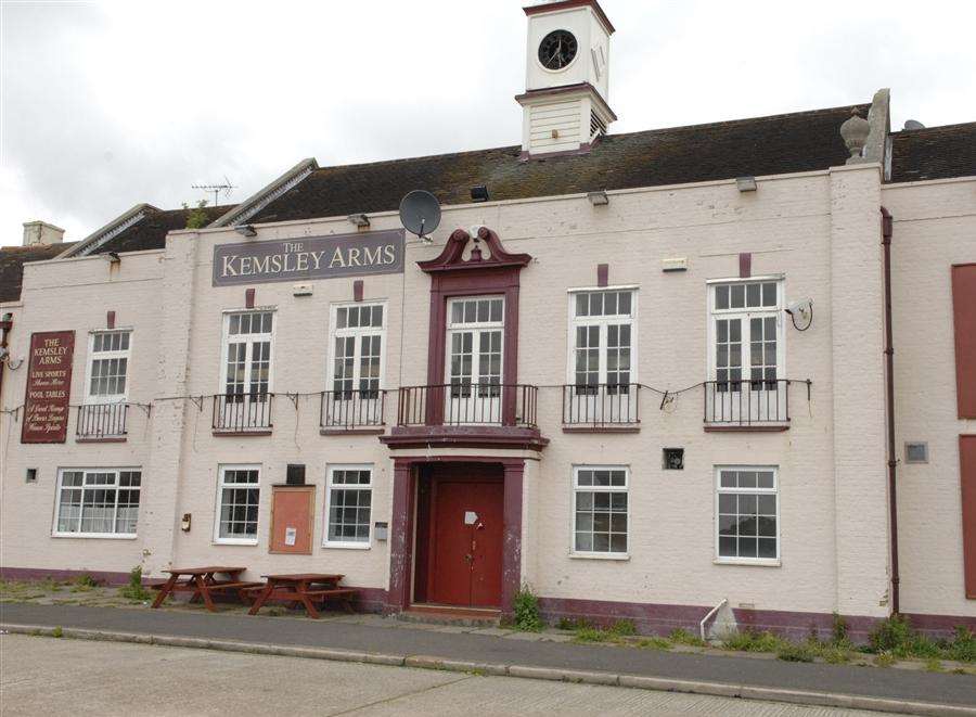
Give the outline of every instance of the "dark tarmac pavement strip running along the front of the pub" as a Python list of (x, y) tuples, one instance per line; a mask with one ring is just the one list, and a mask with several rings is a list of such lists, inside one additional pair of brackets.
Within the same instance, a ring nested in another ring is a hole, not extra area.
[(459, 631), (459, 628), (449, 626), (418, 629), (418, 626), (380, 617), (363, 624), (361, 618), (355, 617), (316, 622), (176, 610), (25, 603), (0, 605), (0, 622), (386, 654), (435, 655), (447, 660), (604, 670), (976, 707), (976, 678), (971, 675), (501, 639), (490, 635), (491, 630), (484, 631), (489, 632), (484, 635)]

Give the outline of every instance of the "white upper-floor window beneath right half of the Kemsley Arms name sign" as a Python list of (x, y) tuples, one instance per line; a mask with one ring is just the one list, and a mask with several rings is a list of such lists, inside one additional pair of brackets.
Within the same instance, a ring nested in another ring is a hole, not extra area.
[(332, 309), (332, 390), (336, 398), (371, 399), (383, 383), (384, 307), (382, 304)]

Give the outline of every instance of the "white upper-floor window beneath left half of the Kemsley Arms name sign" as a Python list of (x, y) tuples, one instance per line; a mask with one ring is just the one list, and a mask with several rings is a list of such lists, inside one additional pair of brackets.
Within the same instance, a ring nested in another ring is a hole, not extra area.
[(271, 311), (224, 316), (221, 384), (228, 398), (264, 399), (271, 389), (273, 316)]

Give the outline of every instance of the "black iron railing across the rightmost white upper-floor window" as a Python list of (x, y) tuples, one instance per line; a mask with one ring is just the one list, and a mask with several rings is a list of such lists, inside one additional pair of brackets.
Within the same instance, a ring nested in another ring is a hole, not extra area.
[(755, 425), (789, 421), (789, 381), (706, 381), (705, 423)]

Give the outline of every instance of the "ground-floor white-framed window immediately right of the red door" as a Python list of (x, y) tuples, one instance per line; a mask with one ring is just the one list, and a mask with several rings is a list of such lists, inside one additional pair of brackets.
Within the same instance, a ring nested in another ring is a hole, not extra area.
[(626, 555), (629, 469), (578, 465), (573, 470), (573, 552)]

